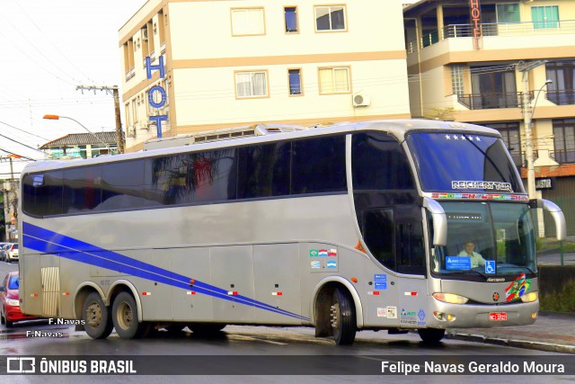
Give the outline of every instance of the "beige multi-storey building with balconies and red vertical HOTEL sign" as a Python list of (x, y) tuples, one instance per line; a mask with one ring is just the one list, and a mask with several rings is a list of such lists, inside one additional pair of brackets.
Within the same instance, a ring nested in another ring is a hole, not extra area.
[(575, 235), (575, 0), (425, 0), (403, 17), (412, 116), (499, 129), (524, 178), (527, 122), (536, 195)]

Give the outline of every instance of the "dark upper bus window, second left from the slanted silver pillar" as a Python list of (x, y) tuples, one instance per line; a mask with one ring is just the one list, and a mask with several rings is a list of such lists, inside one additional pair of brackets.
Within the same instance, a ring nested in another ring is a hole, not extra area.
[(238, 199), (289, 194), (291, 143), (240, 148)]

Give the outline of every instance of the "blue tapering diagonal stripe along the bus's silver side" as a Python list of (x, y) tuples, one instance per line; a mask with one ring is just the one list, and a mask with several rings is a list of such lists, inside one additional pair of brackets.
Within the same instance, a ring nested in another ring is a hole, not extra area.
[(195, 290), (198, 293), (203, 293), (217, 299), (226, 299), (239, 304), (275, 312), (279, 315), (309, 321), (307, 317), (297, 315), (285, 309), (273, 307), (255, 299), (250, 299), (242, 295), (230, 296), (227, 294), (227, 290), (203, 281), (195, 281), (193, 285), (190, 285), (190, 280), (193, 278), (188, 276), (174, 273), (164, 268), (138, 261), (126, 255), (120, 255), (98, 246), (93, 246), (89, 243), (84, 243), (72, 237), (66, 237), (57, 232), (52, 232), (46, 228), (40, 228), (27, 222), (22, 223), (22, 233), (23, 246), (41, 253), (58, 255), (76, 262), (127, 273), (150, 281), (163, 282), (164, 284), (172, 285), (173, 287), (183, 290)]

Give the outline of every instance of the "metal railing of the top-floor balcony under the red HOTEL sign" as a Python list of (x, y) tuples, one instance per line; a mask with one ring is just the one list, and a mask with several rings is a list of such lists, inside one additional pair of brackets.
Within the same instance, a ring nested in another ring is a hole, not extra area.
[[(553, 28), (543, 28), (543, 25)], [(488, 36), (533, 36), (575, 34), (575, 20), (561, 20), (559, 22), (504, 22), (480, 24), (483, 37)], [(419, 40), (407, 42), (408, 53), (435, 44), (441, 40), (453, 38), (470, 38), (473, 36), (473, 24), (450, 24), (441, 30), (431, 31), (420, 37)]]

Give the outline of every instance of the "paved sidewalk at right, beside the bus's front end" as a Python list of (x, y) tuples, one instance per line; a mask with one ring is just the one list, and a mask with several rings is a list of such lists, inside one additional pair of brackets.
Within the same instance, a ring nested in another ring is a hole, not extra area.
[(447, 330), (446, 337), (555, 353), (575, 353), (575, 314), (540, 313), (531, 326)]

